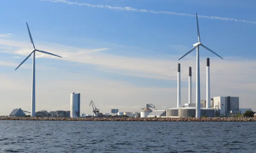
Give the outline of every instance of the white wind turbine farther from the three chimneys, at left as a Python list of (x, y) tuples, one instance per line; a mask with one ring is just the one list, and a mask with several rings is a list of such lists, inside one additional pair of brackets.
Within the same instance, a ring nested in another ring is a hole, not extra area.
[[(28, 28), (28, 31), (29, 31), (29, 26), (28, 26), (27, 22), (26, 22), (26, 25), (27, 25), (27, 28)], [(45, 53), (45, 54), (49, 54), (49, 55), (53, 55), (53, 56), (57, 56), (57, 57), (60, 57), (60, 58), (62, 58), (62, 57), (58, 56), (58, 55), (55, 55), (55, 54), (52, 54), (52, 53), (49, 53), (49, 52), (45, 52), (43, 50), (35, 49), (35, 45), (34, 45), (34, 42), (33, 42), (33, 39), (32, 39), (30, 31), (29, 31), (29, 37), (30, 37), (30, 41), (31, 41), (34, 49), (24, 59), (24, 61), (22, 61), (20, 63), (20, 65), (16, 69), (18, 69), (33, 54), (33, 64), (32, 64), (32, 98), (31, 98), (31, 117), (33, 117), (33, 116), (35, 116), (35, 51), (38, 51), (38, 52), (41, 52), (41, 53)]]

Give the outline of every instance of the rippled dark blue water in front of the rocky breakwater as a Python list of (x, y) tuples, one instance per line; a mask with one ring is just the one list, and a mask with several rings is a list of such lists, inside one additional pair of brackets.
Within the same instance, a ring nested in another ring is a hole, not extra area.
[(0, 122), (0, 153), (255, 153), (256, 150), (256, 132), (252, 130), (256, 122)]

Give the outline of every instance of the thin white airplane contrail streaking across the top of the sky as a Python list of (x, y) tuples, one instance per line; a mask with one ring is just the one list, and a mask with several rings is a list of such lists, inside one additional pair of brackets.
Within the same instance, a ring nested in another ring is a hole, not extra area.
[[(108, 6), (108, 5), (92, 5), (87, 3), (70, 2), (68, 0), (41, 0), (41, 1), (48, 1), (48, 2), (54, 2), (54, 3), (66, 3), (68, 5), (87, 6), (87, 7), (100, 8), (100, 9), (112, 9), (112, 10), (122, 10), (122, 11), (134, 11), (134, 12), (144, 12), (144, 13), (154, 13), (154, 14), (168, 14), (168, 15), (176, 15), (176, 16), (195, 17), (195, 15), (193, 14), (186, 14), (186, 13), (153, 11), (153, 10), (146, 10), (146, 9), (134, 9), (131, 7), (114, 7), (114, 6)], [(240, 19), (234, 19), (234, 18), (228, 18), (228, 17), (213, 17), (213, 16), (204, 16), (204, 15), (198, 15), (198, 17), (210, 19), (210, 20), (235, 21), (235, 22), (256, 24), (255, 21), (240, 20)]]

